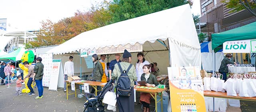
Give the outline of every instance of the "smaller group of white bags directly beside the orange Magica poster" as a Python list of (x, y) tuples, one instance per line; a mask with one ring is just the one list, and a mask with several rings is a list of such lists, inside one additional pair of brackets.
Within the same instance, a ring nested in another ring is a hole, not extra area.
[(206, 91), (216, 91), (216, 92), (225, 92), (223, 89), (224, 80), (222, 80), (222, 74), (212, 74), (212, 76), (204, 77), (204, 90)]

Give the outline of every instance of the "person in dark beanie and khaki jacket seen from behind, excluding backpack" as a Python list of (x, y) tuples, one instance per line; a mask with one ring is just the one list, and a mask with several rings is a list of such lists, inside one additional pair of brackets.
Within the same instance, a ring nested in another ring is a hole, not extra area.
[[(130, 63), (132, 62), (132, 55), (127, 50), (124, 50), (122, 62), (120, 62), (122, 70), (127, 70), (130, 66)], [(118, 64), (114, 65), (114, 70), (112, 74), (112, 80), (116, 80), (121, 76), (121, 72)], [(131, 96), (117, 96), (117, 104), (119, 112), (134, 112), (134, 81), (137, 80), (136, 70), (134, 65), (130, 68), (130, 70), (127, 73), (128, 77), (130, 78), (130, 86), (132, 87)], [(117, 80), (116, 80), (117, 82)]]

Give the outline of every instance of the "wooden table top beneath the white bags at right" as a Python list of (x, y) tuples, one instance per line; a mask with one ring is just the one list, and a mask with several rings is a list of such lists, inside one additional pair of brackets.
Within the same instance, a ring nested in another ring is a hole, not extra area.
[(256, 97), (228, 96), (226, 92), (204, 91), (204, 96), (256, 101)]

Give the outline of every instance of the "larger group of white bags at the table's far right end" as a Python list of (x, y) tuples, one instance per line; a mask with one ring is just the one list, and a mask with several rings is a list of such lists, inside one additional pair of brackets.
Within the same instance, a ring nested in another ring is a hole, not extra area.
[[(229, 76), (228, 76), (229, 77)], [(256, 97), (256, 75), (234, 74), (224, 83), (223, 89), (228, 96)]]

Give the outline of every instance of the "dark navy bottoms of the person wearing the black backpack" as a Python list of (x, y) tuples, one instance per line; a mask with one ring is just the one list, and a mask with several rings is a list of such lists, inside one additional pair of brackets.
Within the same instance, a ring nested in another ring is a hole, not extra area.
[(131, 96), (116, 96), (119, 112), (134, 112), (134, 89)]

